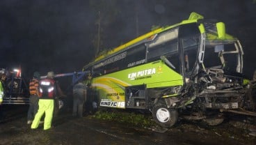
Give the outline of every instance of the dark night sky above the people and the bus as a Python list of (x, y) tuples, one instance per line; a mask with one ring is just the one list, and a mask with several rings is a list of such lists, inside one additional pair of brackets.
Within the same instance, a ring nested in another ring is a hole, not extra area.
[[(104, 0), (93, 1), (100, 5)], [(115, 15), (104, 13), (103, 47), (116, 47), (136, 37), (135, 7), (139, 35), (150, 31), (152, 25), (180, 22), (192, 11), (225, 22), (227, 33), (243, 45), (244, 73), (251, 77), (256, 70), (255, 0), (118, 0), (115, 8), (109, 8), (116, 11)], [(35, 70), (42, 75), (49, 70), (80, 70), (95, 56), (96, 20), (95, 7), (89, 0), (1, 0), (0, 68), (21, 65), (26, 77)]]

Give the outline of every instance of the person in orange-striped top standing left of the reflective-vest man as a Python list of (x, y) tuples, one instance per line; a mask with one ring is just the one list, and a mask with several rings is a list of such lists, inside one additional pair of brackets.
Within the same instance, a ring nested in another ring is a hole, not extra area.
[(35, 114), (38, 112), (38, 100), (39, 100), (39, 80), (40, 73), (35, 72), (33, 74), (33, 79), (29, 83), (29, 111), (27, 116), (27, 124), (31, 124)]

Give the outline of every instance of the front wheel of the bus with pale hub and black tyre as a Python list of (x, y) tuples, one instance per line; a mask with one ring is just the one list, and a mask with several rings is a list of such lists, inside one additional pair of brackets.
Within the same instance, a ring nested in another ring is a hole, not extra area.
[(177, 110), (168, 109), (166, 105), (158, 103), (152, 109), (152, 116), (161, 127), (170, 128), (177, 122), (178, 113)]

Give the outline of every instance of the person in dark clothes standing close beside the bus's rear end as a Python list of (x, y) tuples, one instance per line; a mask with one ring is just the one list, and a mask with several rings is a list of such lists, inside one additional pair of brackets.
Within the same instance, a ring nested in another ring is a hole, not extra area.
[(79, 82), (73, 87), (73, 112), (72, 116), (83, 116), (83, 107), (86, 102), (86, 85)]

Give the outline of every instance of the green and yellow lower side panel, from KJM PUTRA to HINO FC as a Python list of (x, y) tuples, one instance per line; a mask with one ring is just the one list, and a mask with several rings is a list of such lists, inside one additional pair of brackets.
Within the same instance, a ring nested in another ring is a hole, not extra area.
[(181, 86), (183, 77), (162, 61), (146, 63), (134, 68), (93, 78), (102, 107), (125, 108), (125, 87), (146, 84), (147, 88)]

